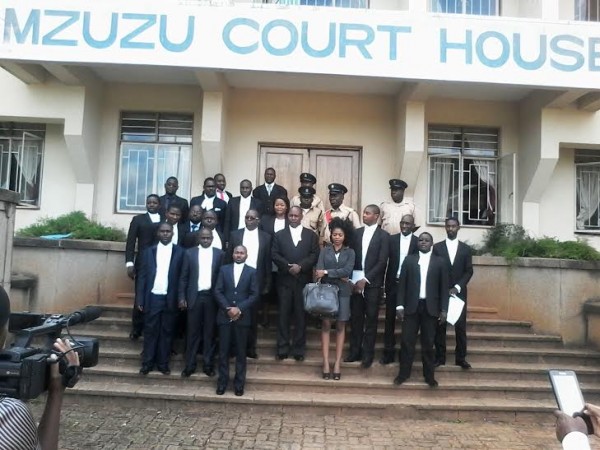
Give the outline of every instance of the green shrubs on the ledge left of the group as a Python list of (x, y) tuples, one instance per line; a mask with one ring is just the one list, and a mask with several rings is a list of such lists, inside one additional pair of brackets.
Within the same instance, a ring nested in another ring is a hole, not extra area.
[(68, 233), (71, 233), (73, 239), (123, 242), (126, 238), (123, 230), (91, 221), (82, 211), (74, 211), (54, 218), (40, 219), (35, 224), (18, 230), (17, 236), (41, 237)]

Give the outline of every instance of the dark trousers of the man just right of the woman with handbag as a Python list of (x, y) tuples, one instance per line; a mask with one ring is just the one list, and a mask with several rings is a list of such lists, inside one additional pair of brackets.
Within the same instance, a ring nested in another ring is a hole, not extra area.
[(375, 353), (380, 297), (380, 288), (367, 287), (363, 295), (350, 298), (350, 356), (362, 356), (366, 362), (372, 362)]

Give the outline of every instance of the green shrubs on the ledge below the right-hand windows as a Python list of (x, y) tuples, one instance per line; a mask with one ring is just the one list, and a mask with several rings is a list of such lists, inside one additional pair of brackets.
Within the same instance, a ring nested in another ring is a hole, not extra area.
[(559, 241), (555, 238), (532, 238), (519, 225), (498, 224), (488, 230), (476, 254), (516, 258), (555, 258), (600, 261), (600, 252), (583, 240)]

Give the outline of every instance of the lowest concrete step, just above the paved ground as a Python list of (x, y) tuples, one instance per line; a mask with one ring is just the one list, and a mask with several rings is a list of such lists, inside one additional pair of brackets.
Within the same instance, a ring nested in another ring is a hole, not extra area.
[[(330, 382), (334, 383), (334, 382)], [(410, 382), (409, 382), (410, 384)], [(415, 383), (416, 385), (416, 383)], [(74, 389), (67, 390), (68, 397), (78, 403), (97, 404), (125, 402), (129, 406), (160, 408), (201, 408), (202, 404), (223, 404), (224, 408), (239, 408), (251, 413), (257, 407), (261, 411), (303, 412), (328, 414), (372, 414), (373, 417), (393, 416), (398, 419), (438, 420), (494, 420), (504, 422), (552, 423), (552, 411), (556, 405), (552, 399), (487, 399), (447, 398), (437, 389), (428, 397), (403, 395), (406, 387), (398, 387), (396, 395), (373, 396), (368, 393), (323, 395), (315, 392), (293, 393), (288, 391), (254, 390), (248, 388), (245, 395), (235, 397), (231, 390), (223, 396), (215, 394), (215, 386), (191, 384), (185, 389), (165, 389), (161, 385), (127, 383), (104, 383), (82, 380)], [(391, 393), (394, 391), (392, 390)]]

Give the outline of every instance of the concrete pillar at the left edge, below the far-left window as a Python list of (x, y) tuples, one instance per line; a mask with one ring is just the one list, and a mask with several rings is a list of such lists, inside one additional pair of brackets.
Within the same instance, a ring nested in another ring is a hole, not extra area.
[(19, 195), (16, 192), (0, 189), (0, 285), (9, 296), (15, 213), (18, 202)]

